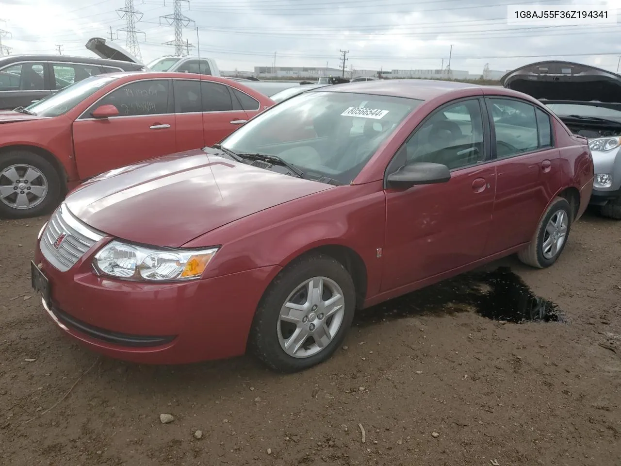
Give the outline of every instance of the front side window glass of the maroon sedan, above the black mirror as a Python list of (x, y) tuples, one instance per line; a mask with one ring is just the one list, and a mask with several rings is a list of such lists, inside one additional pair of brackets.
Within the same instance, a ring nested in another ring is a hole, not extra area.
[(441, 107), (406, 142), (406, 163), (442, 163), (451, 170), (483, 162), (478, 99)]

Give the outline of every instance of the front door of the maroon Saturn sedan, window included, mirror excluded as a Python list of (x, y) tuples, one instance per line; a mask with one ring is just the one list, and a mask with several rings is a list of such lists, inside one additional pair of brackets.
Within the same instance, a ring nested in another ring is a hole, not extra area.
[(451, 169), (446, 183), (387, 189), (381, 291), (409, 285), (481, 258), (492, 222), (496, 167), (489, 163), (483, 100), (440, 107), (410, 135), (388, 173), (405, 163)]

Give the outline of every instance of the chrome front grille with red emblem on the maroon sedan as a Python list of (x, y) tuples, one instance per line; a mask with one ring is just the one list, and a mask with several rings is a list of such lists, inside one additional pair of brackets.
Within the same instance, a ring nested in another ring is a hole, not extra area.
[[(61, 235), (64, 239), (55, 244)], [(47, 223), (39, 247), (43, 257), (61, 272), (69, 270), (104, 235), (76, 219), (63, 203)]]

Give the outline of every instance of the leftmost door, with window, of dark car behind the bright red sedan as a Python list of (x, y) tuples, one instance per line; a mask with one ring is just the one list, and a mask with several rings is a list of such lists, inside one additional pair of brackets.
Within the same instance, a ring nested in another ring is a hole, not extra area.
[(27, 107), (51, 93), (47, 62), (21, 62), (0, 69), (0, 110)]

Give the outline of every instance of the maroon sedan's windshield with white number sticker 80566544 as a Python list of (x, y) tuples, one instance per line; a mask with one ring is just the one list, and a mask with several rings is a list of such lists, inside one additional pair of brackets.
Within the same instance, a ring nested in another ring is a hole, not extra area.
[(258, 114), (222, 141), (237, 153), (277, 155), (308, 178), (348, 184), (421, 100), (308, 91)]

